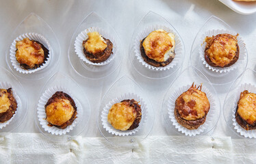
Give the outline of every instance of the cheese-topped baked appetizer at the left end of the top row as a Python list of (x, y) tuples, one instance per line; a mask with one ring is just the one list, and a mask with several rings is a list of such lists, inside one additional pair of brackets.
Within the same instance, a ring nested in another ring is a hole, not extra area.
[(25, 70), (42, 66), (48, 57), (49, 50), (38, 41), (24, 38), (16, 42), (16, 60)]

